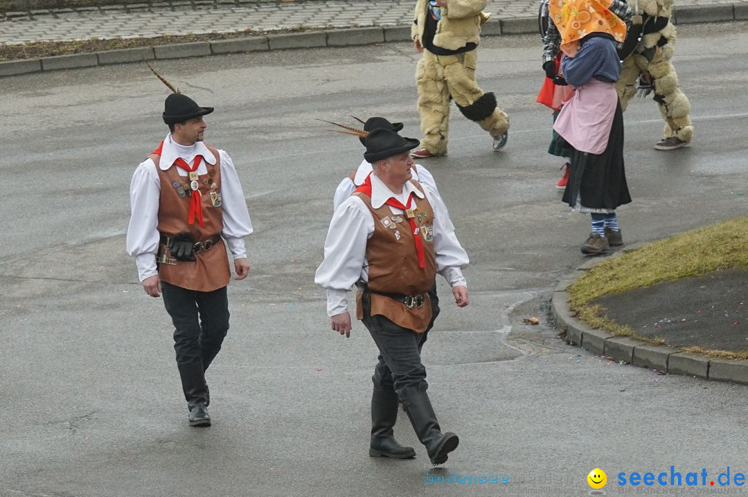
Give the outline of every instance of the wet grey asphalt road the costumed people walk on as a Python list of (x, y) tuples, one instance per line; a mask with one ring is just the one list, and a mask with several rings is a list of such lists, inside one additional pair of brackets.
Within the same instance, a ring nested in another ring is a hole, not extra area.
[[(634, 203), (627, 243), (748, 213), (748, 25), (679, 28), (675, 58), (696, 138), (652, 149), (652, 99), (625, 113)], [(470, 255), (471, 303), (444, 309), (423, 360), (441, 426), (459, 434), (429, 468), (367, 454), (375, 345), (329, 329), (313, 284), (332, 194), (358, 140), (314, 118), (381, 115), (419, 137), (407, 43), (230, 55), (156, 66), (215, 106), (206, 141), (237, 164), (255, 226), (250, 277), (230, 285), (231, 330), (209, 370), (209, 429), (186, 424), (160, 299), (124, 253), (129, 180), (165, 136), (162, 86), (141, 65), (4, 78), (0, 114), (0, 496), (583, 496), (587, 473), (748, 473), (747, 390), (596, 358), (555, 337), (548, 300), (584, 261), (589, 219), (560, 202), (537, 36), (487, 38), (479, 82), (512, 129), (505, 151), (453, 108), (450, 155), (423, 161)], [(539, 326), (521, 324), (538, 316)], [(496, 475), (508, 484), (426, 484)], [(506, 478), (503, 478), (506, 477)], [(710, 487), (709, 481), (715, 481)], [(724, 481), (724, 480), (723, 480)], [(669, 479), (668, 479), (669, 483)]]

